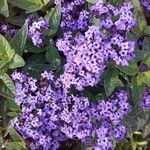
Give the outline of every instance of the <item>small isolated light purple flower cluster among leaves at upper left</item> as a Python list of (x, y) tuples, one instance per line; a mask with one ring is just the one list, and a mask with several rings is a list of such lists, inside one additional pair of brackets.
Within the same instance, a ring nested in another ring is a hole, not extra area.
[(34, 16), (29, 16), (26, 19), (29, 25), (29, 33), (28, 36), (32, 40), (35, 46), (42, 46), (44, 44), (44, 31), (49, 28), (49, 23), (43, 17), (36, 19)]

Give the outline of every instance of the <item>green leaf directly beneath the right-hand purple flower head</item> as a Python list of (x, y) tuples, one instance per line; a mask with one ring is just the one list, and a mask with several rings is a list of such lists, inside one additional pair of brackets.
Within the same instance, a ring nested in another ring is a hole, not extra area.
[(138, 65), (136, 62), (130, 62), (129, 66), (116, 66), (120, 71), (126, 73), (127, 75), (136, 75), (138, 73)]

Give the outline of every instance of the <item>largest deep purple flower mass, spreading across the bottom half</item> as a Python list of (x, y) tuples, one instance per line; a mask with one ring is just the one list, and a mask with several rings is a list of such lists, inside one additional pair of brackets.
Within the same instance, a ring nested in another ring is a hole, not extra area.
[(69, 139), (93, 143), (94, 150), (109, 150), (114, 140), (127, 134), (121, 121), (131, 107), (123, 90), (108, 101), (94, 103), (81, 95), (63, 93), (55, 85), (52, 72), (45, 71), (40, 80), (19, 72), (14, 72), (12, 78), (16, 102), (21, 107), (21, 114), (12, 124), (32, 150), (57, 150), (61, 142)]

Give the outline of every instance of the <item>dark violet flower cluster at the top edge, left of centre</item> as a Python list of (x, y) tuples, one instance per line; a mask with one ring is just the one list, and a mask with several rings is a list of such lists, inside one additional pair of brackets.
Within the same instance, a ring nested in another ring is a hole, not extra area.
[(61, 27), (64, 30), (85, 30), (88, 26), (89, 12), (84, 9), (85, 0), (56, 0), (61, 3)]

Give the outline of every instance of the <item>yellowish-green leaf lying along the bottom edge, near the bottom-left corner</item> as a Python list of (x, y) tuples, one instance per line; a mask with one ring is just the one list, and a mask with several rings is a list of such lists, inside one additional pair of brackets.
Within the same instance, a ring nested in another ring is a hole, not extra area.
[(7, 150), (25, 150), (26, 146), (24, 142), (9, 142), (5, 143), (4, 147)]

